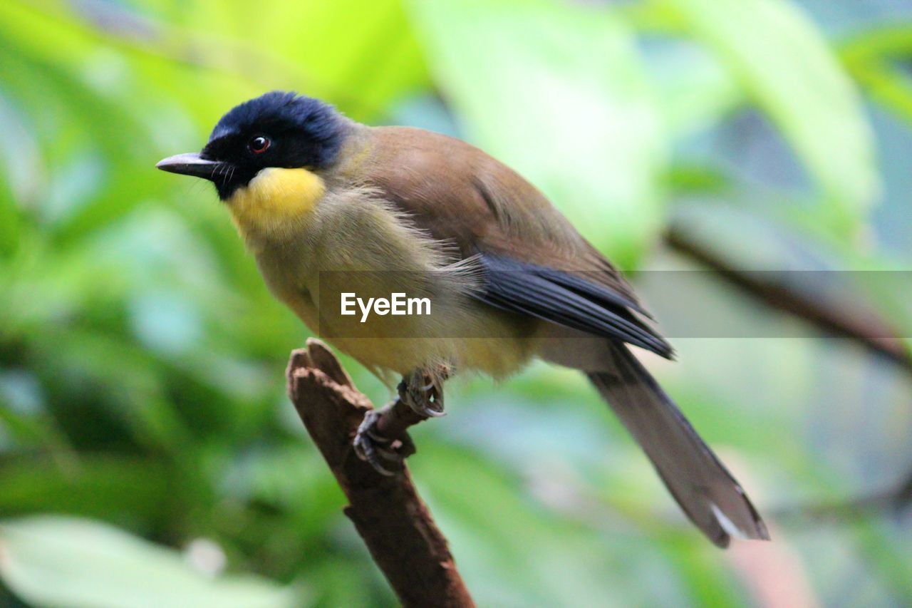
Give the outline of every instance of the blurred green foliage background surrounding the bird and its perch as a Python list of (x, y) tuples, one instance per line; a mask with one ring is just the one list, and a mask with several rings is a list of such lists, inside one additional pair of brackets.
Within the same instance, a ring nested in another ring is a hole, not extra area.
[[(269, 89), (480, 145), (635, 278), (700, 267), (669, 234), (912, 269), (912, 2), (5, 0), (0, 605), (395, 604), (285, 398), (306, 329), (154, 170)], [(912, 335), (907, 290), (845, 289)], [(710, 299), (800, 336), (649, 361), (774, 542), (712, 547), (581, 376), (456, 381), (410, 466), (480, 604), (912, 603), (912, 366)]]

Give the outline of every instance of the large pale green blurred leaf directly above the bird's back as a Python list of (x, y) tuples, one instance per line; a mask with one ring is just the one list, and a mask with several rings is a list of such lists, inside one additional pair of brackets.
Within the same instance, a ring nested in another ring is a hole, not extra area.
[(633, 265), (658, 230), (666, 142), (622, 24), (549, 1), (412, 7), (434, 77), (472, 141)]

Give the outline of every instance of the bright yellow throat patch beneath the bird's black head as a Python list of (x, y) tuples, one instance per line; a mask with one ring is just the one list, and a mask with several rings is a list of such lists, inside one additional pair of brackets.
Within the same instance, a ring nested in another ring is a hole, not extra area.
[(234, 225), (244, 240), (289, 236), (326, 192), (326, 184), (306, 169), (270, 167), (257, 173), (228, 199)]

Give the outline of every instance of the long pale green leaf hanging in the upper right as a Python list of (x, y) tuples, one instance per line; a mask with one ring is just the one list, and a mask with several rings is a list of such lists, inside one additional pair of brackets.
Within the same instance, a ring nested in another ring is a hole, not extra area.
[(880, 191), (859, 95), (811, 21), (783, 0), (667, 0), (790, 142), (846, 234)]

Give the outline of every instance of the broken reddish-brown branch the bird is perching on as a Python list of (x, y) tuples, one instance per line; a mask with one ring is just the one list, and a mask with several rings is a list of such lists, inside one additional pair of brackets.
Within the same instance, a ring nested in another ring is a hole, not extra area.
[[(286, 378), (297, 414), (348, 498), (345, 514), (399, 601), (405, 606), (474, 606), (408, 468), (385, 477), (355, 455), (352, 438), (372, 405), (336, 356), (323, 342), (309, 339), (306, 349), (292, 352)], [(417, 416), (390, 406), (379, 430), (401, 436), (410, 447), (404, 432), (417, 422)]]

